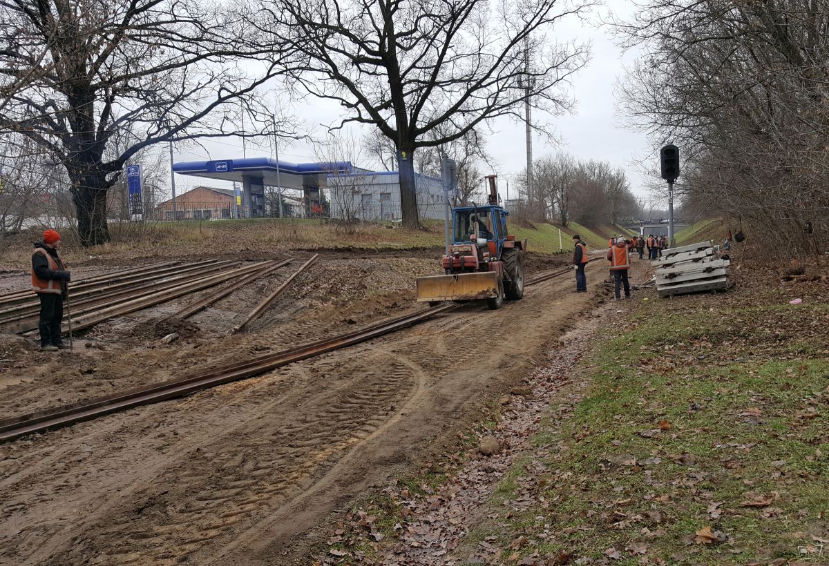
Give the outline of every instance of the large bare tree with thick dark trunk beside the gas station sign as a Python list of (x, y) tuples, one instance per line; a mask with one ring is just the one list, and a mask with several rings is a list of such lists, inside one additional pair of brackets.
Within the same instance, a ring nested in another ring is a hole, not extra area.
[[(22, 133), (65, 167), (83, 244), (109, 239), (107, 191), (143, 148), (237, 133), (240, 99), (268, 123), (255, 94), (274, 55), (257, 75), (243, 69), (240, 57), (260, 55), (235, 40), (243, 31), (239, 17), (196, 0), (0, 5), (0, 133)], [(129, 139), (117, 152), (116, 135)]]

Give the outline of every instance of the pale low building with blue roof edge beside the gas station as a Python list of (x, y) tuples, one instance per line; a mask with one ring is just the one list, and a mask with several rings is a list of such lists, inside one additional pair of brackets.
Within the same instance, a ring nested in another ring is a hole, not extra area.
[[(444, 189), (437, 177), (414, 174), (421, 219), (444, 218)], [(350, 175), (329, 175), (327, 191), (334, 218), (400, 220), (400, 174), (355, 168)]]

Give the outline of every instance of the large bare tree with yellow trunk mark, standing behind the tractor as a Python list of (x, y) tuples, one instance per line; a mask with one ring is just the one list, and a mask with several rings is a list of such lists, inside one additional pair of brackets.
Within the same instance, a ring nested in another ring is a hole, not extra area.
[[(369, 123), (395, 143), (404, 225), (419, 225), (414, 156), (488, 120), (570, 109), (568, 80), (588, 47), (552, 46), (557, 22), (593, 0), (267, 0), (252, 26), (304, 93), (342, 104), (347, 123)], [(532, 65), (526, 65), (529, 57)], [(544, 129), (544, 123), (537, 123)], [(441, 135), (434, 135), (438, 128)]]

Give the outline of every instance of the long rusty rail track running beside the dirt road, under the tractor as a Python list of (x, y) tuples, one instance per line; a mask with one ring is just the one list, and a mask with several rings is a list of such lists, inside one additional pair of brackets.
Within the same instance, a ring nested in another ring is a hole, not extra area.
[[(594, 258), (590, 261), (594, 261)], [(543, 273), (526, 281), (525, 285), (535, 285), (551, 278), (572, 273), (572, 268), (562, 268), (551, 273)], [(82, 401), (76, 404), (65, 405), (55, 409), (46, 409), (32, 414), (23, 414), (14, 418), (0, 421), (0, 443), (20, 438), (26, 434), (41, 433), (46, 430), (61, 428), (73, 423), (80, 423), (131, 409), (143, 404), (158, 403), (159, 401), (182, 397), (209, 389), (216, 385), (244, 380), (264, 372), (275, 370), (284, 365), (314, 356), (320, 356), (347, 346), (353, 346), (364, 341), (372, 340), (391, 332), (411, 327), (424, 322), (438, 314), (452, 311), (458, 305), (447, 303), (437, 307), (430, 307), (414, 314), (397, 317), (380, 322), (359, 331), (350, 332), (330, 339), (313, 341), (288, 350), (264, 354), (233, 365), (216, 368), (206, 373), (191, 375), (179, 380), (169, 380), (146, 387), (130, 389), (118, 394), (107, 395), (97, 399)]]

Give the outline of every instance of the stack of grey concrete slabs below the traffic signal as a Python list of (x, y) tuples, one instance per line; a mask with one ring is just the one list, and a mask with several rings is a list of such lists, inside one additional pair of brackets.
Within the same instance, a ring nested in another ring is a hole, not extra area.
[(662, 298), (728, 288), (729, 264), (718, 257), (710, 241), (665, 249), (661, 258), (651, 262)]

